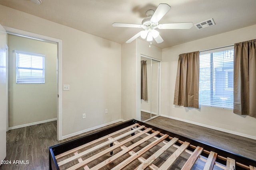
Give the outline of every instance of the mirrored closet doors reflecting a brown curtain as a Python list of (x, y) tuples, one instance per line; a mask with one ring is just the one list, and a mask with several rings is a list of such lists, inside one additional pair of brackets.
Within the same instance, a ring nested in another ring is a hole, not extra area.
[[(160, 114), (160, 61), (141, 56), (141, 121), (148, 121)], [(144, 67), (144, 68), (143, 68)]]

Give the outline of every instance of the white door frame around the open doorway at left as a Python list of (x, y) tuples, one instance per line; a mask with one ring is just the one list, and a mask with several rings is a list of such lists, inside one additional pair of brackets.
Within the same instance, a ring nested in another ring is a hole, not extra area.
[[(27, 31), (22, 31), (20, 29), (15, 29), (11, 27), (3, 26), (6, 30), (6, 33), (8, 34), (14, 34), (26, 38), (36, 39), (39, 41), (44, 41), (48, 43), (56, 43), (57, 44), (57, 96), (58, 96), (58, 102), (57, 102), (57, 140), (62, 140), (62, 40), (56, 39), (36, 33), (30, 33)], [(7, 91), (8, 94), (8, 91)], [(8, 119), (6, 120), (8, 121)]]

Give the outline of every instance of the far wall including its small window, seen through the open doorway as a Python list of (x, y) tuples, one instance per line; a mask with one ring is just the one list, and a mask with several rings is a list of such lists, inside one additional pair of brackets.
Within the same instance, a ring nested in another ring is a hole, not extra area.
[(9, 129), (57, 119), (57, 44), (8, 34)]

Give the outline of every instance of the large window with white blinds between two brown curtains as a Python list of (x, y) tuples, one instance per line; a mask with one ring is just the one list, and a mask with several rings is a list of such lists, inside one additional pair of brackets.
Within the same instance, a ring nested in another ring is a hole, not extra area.
[(234, 46), (231, 48), (200, 52), (199, 105), (233, 109)]

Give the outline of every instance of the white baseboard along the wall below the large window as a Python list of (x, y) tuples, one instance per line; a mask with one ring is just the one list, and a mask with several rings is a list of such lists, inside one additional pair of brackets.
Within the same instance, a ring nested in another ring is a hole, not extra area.
[(167, 118), (170, 118), (170, 119), (175, 119), (175, 120), (178, 120), (178, 121), (183, 121), (183, 122), (186, 122), (186, 123), (191, 123), (191, 124), (202, 126), (202, 127), (207, 127), (207, 128), (214, 129), (214, 130), (217, 130), (217, 131), (231, 133), (233, 135), (238, 135), (238, 136), (242, 136), (242, 137), (246, 137), (246, 138), (256, 140), (256, 137), (252, 136), (252, 135), (246, 135), (244, 133), (234, 132), (234, 131), (230, 131), (230, 130), (227, 130), (227, 129), (222, 129), (222, 128), (218, 128), (218, 127), (214, 127), (214, 126), (209, 126), (209, 125), (205, 125), (205, 124), (202, 124), (202, 123), (197, 123), (197, 122), (194, 122), (194, 121), (188, 121), (188, 120), (185, 120), (185, 119), (180, 119), (180, 118), (172, 117), (172, 116), (168, 116), (168, 115), (161, 115), (161, 116), (162, 117), (167, 117)]

